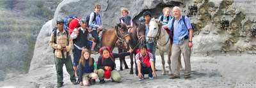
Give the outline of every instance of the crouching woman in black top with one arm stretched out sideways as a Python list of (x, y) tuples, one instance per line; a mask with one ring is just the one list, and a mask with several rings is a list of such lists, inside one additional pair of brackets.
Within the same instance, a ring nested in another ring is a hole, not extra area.
[(120, 74), (115, 70), (115, 58), (124, 57), (126, 55), (132, 54), (132, 49), (128, 52), (115, 54), (111, 52), (111, 49), (109, 47), (102, 47), (100, 48), (99, 52), (100, 57), (98, 59), (97, 68), (99, 69), (98, 76), (100, 84), (103, 84), (105, 82), (104, 78), (112, 78), (114, 82), (120, 82)]

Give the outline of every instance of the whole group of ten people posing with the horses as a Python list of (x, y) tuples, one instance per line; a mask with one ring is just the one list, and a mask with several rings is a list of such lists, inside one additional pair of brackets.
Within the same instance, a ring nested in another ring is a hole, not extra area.
[[(185, 61), (185, 77), (190, 77), (190, 55), (192, 45), (193, 29), (188, 17), (184, 17), (185, 22), (182, 21), (180, 15), (180, 8), (175, 6), (173, 8), (173, 16), (170, 15), (170, 8), (163, 9), (163, 15), (159, 17), (159, 22), (164, 26), (164, 29), (173, 31), (173, 45), (172, 45), (172, 67), (173, 75), (170, 78), (180, 78), (180, 68), (177, 64), (179, 55), (182, 53)], [(127, 25), (129, 33), (132, 33), (132, 18), (128, 15), (127, 8), (122, 8), (122, 17), (120, 22)], [(150, 11), (143, 13), (143, 24), (145, 24), (145, 36), (147, 40), (147, 33), (149, 31), (149, 22), (152, 18)], [(99, 44), (99, 31), (102, 31), (102, 22), (100, 19), (100, 5), (94, 6), (94, 11), (90, 14), (90, 20), (87, 23), (86, 19), (79, 20), (79, 27), (72, 32), (63, 29), (63, 20), (57, 20), (57, 27), (51, 34), (49, 45), (54, 48), (54, 61), (57, 71), (57, 87), (63, 86), (63, 64), (65, 64), (70, 81), (72, 84), (92, 85), (95, 80), (99, 78), (100, 84), (104, 84), (105, 79), (111, 78), (114, 82), (120, 82), (121, 76), (115, 70), (115, 58), (125, 57), (132, 54), (135, 50), (129, 50), (119, 54), (111, 52), (111, 47), (103, 46), (99, 49), (99, 58), (97, 61), (91, 57), (95, 46)], [(92, 36), (90, 36), (92, 35)], [(92, 44), (92, 47), (89, 47)], [(73, 48), (74, 47), (74, 48)], [(74, 54), (72, 62), (70, 52)], [(136, 51), (136, 64), (138, 68), (138, 78), (143, 80), (145, 74), (148, 74), (148, 79), (152, 80), (157, 77), (156, 74), (156, 43), (154, 40), (147, 40), (147, 43), (140, 44)], [(177, 63), (175, 63), (177, 62)], [(132, 67), (131, 67), (132, 68)], [(77, 79), (78, 78), (78, 79)]]

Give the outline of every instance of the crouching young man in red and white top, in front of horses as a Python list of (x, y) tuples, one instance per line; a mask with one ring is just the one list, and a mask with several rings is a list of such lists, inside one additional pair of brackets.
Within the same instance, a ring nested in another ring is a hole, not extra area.
[(147, 51), (146, 45), (140, 45), (140, 52), (135, 55), (135, 60), (138, 67), (138, 77), (140, 78), (140, 81), (144, 79), (144, 74), (148, 74), (148, 78), (150, 80), (156, 77), (154, 58), (153, 55)]

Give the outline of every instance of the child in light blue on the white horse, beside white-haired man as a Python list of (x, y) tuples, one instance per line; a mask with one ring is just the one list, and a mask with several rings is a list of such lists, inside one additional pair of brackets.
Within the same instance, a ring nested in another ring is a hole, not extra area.
[(166, 25), (168, 24), (168, 21), (172, 19), (172, 16), (170, 15), (171, 9), (166, 7), (163, 9), (163, 15), (159, 17), (159, 21), (163, 24)]

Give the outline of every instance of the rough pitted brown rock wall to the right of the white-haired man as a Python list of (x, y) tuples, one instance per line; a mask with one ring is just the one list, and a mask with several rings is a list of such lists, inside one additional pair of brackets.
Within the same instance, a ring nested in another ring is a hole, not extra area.
[(250, 2), (255, 4), (252, 0), (195, 1), (198, 12), (192, 16), (196, 26), (194, 51), (255, 53), (255, 15), (248, 8), (253, 4), (246, 4)]

